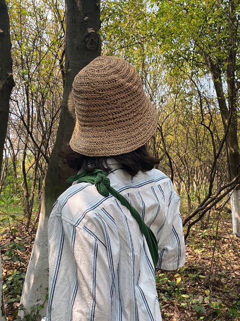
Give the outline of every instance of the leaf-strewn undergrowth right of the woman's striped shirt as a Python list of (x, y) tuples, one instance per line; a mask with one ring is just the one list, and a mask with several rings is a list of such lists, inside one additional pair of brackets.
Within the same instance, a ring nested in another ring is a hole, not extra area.
[(194, 226), (184, 267), (157, 272), (163, 320), (240, 320), (240, 239), (230, 233), (226, 212), (220, 217), (213, 212), (207, 229), (201, 229), (202, 222)]

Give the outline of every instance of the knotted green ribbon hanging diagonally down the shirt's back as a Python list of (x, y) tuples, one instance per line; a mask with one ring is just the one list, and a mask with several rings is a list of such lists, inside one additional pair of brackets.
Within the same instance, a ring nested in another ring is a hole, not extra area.
[(75, 176), (71, 176), (70, 178), (68, 178), (67, 182), (72, 183), (76, 181), (77, 183), (85, 182), (94, 184), (99, 194), (101, 194), (104, 197), (107, 197), (110, 193), (119, 200), (121, 205), (128, 208), (133, 218), (137, 221), (140, 230), (142, 231), (142, 234), (146, 238), (146, 242), (151, 254), (152, 261), (154, 263), (154, 267), (156, 267), (156, 264), (158, 262), (158, 246), (155, 235), (153, 234), (151, 229), (148, 226), (146, 226), (137, 210), (133, 206), (131, 206), (127, 199), (120, 193), (118, 193), (113, 187), (110, 186), (110, 180), (108, 177), (106, 177), (107, 175), (107, 172), (104, 172), (100, 169), (95, 169), (92, 172), (81, 172)]

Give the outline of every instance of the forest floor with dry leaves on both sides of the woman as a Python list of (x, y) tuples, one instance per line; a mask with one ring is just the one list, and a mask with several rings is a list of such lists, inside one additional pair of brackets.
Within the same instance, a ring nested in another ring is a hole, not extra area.
[[(205, 228), (202, 222), (194, 225), (183, 267), (156, 273), (163, 321), (240, 320), (240, 238), (231, 234), (231, 214), (226, 212), (211, 214)], [(3, 224), (0, 232), (5, 305), (11, 321), (16, 319), (35, 229)]]

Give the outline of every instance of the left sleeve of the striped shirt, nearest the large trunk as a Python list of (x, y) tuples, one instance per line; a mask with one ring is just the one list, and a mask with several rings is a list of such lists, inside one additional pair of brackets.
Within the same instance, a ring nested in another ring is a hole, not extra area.
[[(74, 226), (62, 220), (53, 208), (48, 234), (50, 275), (46, 321), (109, 320), (110, 271), (114, 269), (109, 264), (114, 262), (109, 262), (102, 222), (94, 217), (92, 224), (88, 220), (86, 225)], [(117, 253), (112, 253), (112, 257), (116, 256)]]

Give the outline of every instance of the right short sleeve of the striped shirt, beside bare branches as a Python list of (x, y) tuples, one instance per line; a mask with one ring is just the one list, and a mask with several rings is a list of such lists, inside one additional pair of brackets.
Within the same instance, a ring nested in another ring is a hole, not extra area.
[(165, 187), (164, 199), (164, 225), (159, 233), (156, 268), (174, 270), (185, 262), (185, 242), (179, 212), (180, 199), (170, 180)]

